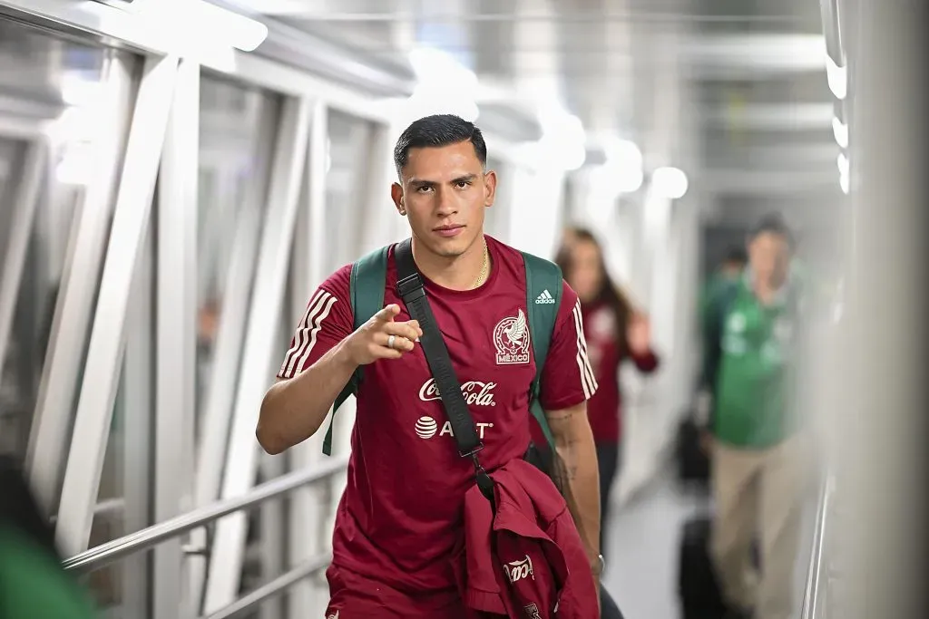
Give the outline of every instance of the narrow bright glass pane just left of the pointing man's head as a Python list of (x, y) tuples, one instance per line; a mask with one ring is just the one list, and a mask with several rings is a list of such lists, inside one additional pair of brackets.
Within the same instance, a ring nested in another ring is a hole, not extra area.
[(329, 167), (326, 174), (326, 275), (358, 258), (371, 170), (373, 126), (339, 111), (329, 112)]

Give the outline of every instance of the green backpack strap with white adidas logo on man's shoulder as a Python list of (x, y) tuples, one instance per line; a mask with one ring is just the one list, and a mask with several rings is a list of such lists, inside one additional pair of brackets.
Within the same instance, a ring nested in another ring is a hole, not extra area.
[(545, 434), (550, 448), (555, 448), (552, 430), (545, 419), (545, 411), (539, 402), (542, 392), (542, 371), (545, 358), (555, 332), (558, 308), (561, 306), (562, 275), (558, 265), (530, 253), (523, 252), (526, 266), (526, 308), (529, 312), (529, 330), (532, 352), (535, 356), (535, 378), (530, 390), (530, 411)]

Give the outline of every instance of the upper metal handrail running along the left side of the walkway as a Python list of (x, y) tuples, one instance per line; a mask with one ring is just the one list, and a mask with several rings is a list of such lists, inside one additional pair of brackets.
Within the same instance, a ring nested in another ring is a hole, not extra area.
[(281, 496), (301, 486), (318, 482), (335, 472), (345, 469), (348, 458), (334, 458), (322, 462), (319, 466), (306, 471), (294, 471), (281, 475), (264, 484), (255, 486), (251, 492), (235, 496), (200, 509), (193, 509), (170, 520), (153, 524), (150, 527), (129, 535), (124, 535), (98, 547), (90, 548), (63, 562), (66, 570), (93, 572), (113, 561), (119, 561), (127, 555), (140, 552), (158, 545), (166, 539), (184, 535), (191, 529), (213, 522), (235, 511), (251, 508), (269, 498)]

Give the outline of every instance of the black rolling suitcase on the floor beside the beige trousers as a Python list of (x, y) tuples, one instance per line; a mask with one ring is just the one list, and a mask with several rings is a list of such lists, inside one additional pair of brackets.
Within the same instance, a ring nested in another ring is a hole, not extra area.
[(678, 595), (683, 619), (722, 619), (726, 614), (710, 557), (711, 520), (695, 516), (684, 523), (678, 564)]

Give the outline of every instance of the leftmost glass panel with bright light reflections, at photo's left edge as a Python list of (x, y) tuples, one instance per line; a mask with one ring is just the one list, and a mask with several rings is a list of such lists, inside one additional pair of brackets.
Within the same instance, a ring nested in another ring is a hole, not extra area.
[[(32, 426), (74, 215), (90, 174), (98, 173), (87, 154), (106, 134), (101, 123), (111, 121), (98, 113), (107, 54), (0, 20), (0, 89), (6, 94), (0, 114), (45, 127), (53, 158), (38, 195), (7, 355), (0, 359), (0, 449), (19, 458)], [(25, 172), (24, 146), (0, 135), (0, 251), (7, 248), (2, 220), (20, 206), (11, 200)], [(98, 273), (88, 278), (98, 285)]]

